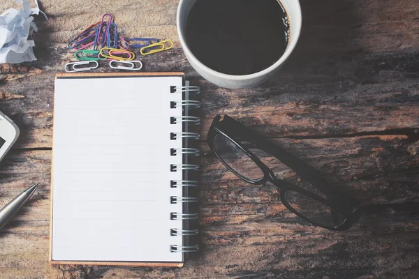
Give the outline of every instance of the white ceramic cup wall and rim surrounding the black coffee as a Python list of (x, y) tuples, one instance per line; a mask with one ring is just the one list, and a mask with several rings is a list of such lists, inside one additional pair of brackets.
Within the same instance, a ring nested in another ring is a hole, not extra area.
[[(177, 33), (189, 63), (191, 63), (193, 68), (206, 80), (209, 80), (218, 86), (226, 87), (229, 89), (238, 89), (256, 86), (262, 82), (265, 82), (265, 80), (278, 72), (286, 59), (288, 59), (288, 56), (290, 56), (291, 52), (293, 52), (295, 45), (297, 45), (297, 40), (300, 37), (301, 31), (300, 2), (298, 0), (279, 0), (281, 5), (286, 10), (288, 20), (290, 22), (290, 37), (288, 46), (286, 47), (286, 50), (284, 54), (282, 54), (281, 58), (269, 68), (250, 75), (226, 75), (212, 70), (201, 63), (196, 58), (196, 56), (192, 54), (188, 44), (186, 43), (186, 20), (188, 18), (189, 11), (191, 10), (191, 7), (195, 1), (199, 0), (180, 0), (179, 7), (177, 8)], [(263, 42), (261, 45), (263, 45)]]

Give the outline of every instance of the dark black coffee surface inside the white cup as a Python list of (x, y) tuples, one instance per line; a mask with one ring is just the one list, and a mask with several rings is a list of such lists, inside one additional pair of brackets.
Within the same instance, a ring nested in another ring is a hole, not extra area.
[(281, 58), (288, 30), (277, 0), (197, 0), (186, 21), (186, 43), (212, 70), (249, 75)]

